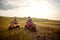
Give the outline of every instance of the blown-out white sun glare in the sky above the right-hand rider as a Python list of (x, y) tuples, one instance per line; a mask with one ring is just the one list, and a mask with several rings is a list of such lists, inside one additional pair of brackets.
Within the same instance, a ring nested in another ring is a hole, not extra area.
[(48, 16), (48, 4), (45, 1), (41, 3), (33, 2), (25, 9), (24, 13), (25, 16), (44, 18), (45, 16)]

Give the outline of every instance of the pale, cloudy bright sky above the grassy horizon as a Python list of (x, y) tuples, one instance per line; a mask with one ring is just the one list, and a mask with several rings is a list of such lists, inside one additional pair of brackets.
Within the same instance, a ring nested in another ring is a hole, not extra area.
[(60, 20), (60, 0), (0, 0), (0, 16)]

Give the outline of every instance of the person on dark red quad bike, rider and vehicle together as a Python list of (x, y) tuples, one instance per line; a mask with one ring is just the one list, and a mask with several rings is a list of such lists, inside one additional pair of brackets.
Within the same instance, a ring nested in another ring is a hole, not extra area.
[(28, 17), (28, 20), (25, 24), (25, 29), (36, 32), (36, 25), (33, 23), (32, 19)]

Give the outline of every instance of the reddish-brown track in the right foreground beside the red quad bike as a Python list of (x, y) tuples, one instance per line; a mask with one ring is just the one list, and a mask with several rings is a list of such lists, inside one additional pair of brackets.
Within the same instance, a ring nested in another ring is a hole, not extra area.
[(33, 40), (52, 40), (52, 37), (54, 40), (57, 40), (56, 35), (52, 31), (47, 29), (37, 29), (37, 32), (32, 33)]

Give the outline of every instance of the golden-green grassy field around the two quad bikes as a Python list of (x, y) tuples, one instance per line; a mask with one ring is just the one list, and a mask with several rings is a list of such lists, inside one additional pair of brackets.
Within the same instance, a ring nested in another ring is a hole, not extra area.
[(59, 40), (60, 21), (32, 18), (37, 28), (37, 32), (33, 33), (24, 29), (26, 17), (17, 18), (20, 30), (8, 30), (13, 19), (13, 17), (0, 17), (0, 40)]

